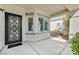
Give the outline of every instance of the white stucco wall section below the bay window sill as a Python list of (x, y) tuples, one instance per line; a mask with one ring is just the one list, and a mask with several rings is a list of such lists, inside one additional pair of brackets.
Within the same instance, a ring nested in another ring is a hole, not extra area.
[(49, 32), (26, 34), (26, 39), (27, 39), (26, 41), (38, 41), (38, 40), (47, 39), (49, 37), (50, 37)]

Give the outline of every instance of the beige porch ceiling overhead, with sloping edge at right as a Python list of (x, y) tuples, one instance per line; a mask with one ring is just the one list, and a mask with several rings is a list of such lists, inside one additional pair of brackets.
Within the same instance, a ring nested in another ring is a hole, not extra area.
[(44, 11), (48, 15), (56, 15), (65, 11), (72, 11), (79, 9), (78, 4), (19, 4), (18, 6), (24, 8), (37, 8), (41, 11)]

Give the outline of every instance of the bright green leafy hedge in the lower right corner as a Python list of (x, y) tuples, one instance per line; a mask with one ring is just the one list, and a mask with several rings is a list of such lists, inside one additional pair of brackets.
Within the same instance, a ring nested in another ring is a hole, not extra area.
[(79, 32), (76, 33), (76, 36), (72, 39), (72, 53), (74, 55), (79, 55)]

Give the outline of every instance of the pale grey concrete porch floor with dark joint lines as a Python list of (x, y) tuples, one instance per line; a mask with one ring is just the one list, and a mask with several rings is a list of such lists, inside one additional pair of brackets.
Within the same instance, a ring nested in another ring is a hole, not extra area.
[(1, 55), (72, 55), (70, 44), (53, 39), (37, 42), (24, 42), (23, 45), (10, 49), (3, 49)]

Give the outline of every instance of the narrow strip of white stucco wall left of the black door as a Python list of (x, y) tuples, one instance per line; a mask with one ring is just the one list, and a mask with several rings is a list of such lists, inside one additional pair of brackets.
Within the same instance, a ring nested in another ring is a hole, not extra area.
[(0, 11), (0, 49), (2, 48), (2, 46), (4, 46), (4, 39), (5, 39), (5, 20), (4, 20), (4, 13), (2, 13), (1, 11)]

